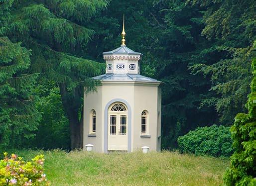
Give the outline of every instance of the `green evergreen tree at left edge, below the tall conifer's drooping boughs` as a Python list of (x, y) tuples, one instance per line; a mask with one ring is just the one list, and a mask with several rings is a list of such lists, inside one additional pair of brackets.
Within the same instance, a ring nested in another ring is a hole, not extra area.
[(24, 146), (40, 114), (31, 94), (37, 74), (27, 74), (30, 52), (0, 37), (0, 148)]

